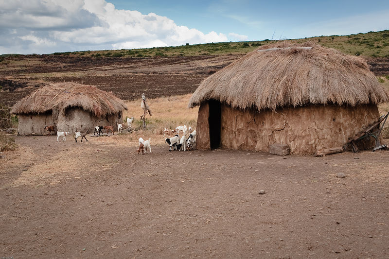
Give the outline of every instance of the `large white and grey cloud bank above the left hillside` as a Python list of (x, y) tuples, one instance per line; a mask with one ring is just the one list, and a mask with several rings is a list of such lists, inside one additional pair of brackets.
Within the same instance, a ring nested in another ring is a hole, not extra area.
[(105, 0), (0, 1), (2, 53), (149, 48), (227, 40), (224, 34), (204, 34), (154, 13), (117, 10)]

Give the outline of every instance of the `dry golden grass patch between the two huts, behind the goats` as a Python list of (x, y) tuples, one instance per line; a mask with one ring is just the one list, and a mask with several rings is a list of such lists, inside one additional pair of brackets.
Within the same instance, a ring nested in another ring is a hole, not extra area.
[[(146, 95), (147, 97), (147, 95)], [(187, 127), (191, 125), (193, 129), (196, 127), (198, 107), (189, 109), (188, 102), (190, 94), (160, 97), (156, 99), (147, 99), (147, 103), (150, 106), (152, 116), (146, 115), (146, 129), (141, 128), (142, 121), (141, 115), (143, 110), (141, 108), (141, 99), (137, 101), (127, 102), (128, 110), (123, 112), (124, 129), (127, 127), (126, 118), (134, 117), (132, 122), (132, 128), (136, 131), (132, 133), (115, 134), (111, 136), (116, 138), (118, 144), (127, 145), (129, 143), (136, 144), (138, 139), (151, 138), (152, 145), (162, 144), (165, 142), (163, 137), (163, 130), (165, 128), (169, 130), (175, 129), (179, 125), (186, 124)], [(182, 133), (181, 133), (182, 134)], [(180, 135), (181, 136), (181, 135)], [(99, 141), (105, 141), (104, 138), (99, 138)]]

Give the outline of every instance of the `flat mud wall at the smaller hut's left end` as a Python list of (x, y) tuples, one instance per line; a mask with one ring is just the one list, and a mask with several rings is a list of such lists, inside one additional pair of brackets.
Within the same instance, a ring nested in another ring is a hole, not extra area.
[[(43, 135), (48, 134), (43, 128), (47, 125), (54, 124), (51, 114), (34, 114), (19, 115), (18, 135)], [(53, 132), (52, 132), (53, 134)]]

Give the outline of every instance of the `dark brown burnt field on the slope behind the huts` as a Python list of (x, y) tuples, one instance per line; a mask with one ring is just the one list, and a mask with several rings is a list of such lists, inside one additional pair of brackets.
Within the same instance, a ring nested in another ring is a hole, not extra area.
[[(242, 55), (156, 58), (92, 58), (25, 55), (0, 63), (0, 100), (13, 105), (39, 86), (78, 82), (112, 91), (123, 100), (193, 93), (200, 82)], [(389, 74), (388, 58), (369, 58), (375, 75)]]

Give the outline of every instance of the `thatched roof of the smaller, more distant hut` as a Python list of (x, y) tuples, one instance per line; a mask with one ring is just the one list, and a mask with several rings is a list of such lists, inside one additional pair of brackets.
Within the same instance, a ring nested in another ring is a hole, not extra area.
[(59, 83), (40, 87), (15, 104), (11, 113), (39, 114), (54, 107), (62, 112), (68, 107), (80, 107), (97, 117), (116, 114), (127, 109), (124, 101), (95, 86)]

